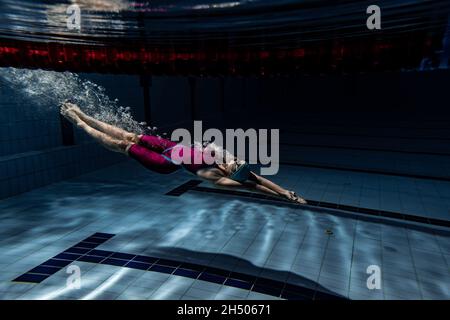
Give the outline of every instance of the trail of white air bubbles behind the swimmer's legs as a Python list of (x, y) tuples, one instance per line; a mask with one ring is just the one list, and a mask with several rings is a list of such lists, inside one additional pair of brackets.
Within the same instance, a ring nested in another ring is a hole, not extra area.
[(136, 121), (130, 108), (121, 106), (117, 99), (110, 99), (105, 88), (72, 72), (0, 68), (0, 81), (37, 104), (41, 111), (59, 108), (69, 100), (86, 114), (127, 131), (154, 134), (156, 129)]

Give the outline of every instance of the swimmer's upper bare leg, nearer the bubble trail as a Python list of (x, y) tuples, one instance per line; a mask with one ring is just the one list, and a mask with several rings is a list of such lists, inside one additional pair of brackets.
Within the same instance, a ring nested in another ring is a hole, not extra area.
[(106, 133), (107, 135), (118, 139), (118, 140), (126, 140), (133, 143), (138, 143), (139, 137), (137, 134), (128, 132), (126, 130), (123, 130), (122, 128), (115, 127), (113, 125), (110, 125), (106, 122), (97, 120), (93, 117), (88, 116), (83, 111), (80, 110), (80, 108), (73, 103), (70, 102), (64, 102), (61, 107), (61, 113), (64, 114), (64, 112), (73, 112), (75, 113), (83, 122), (85, 122), (88, 126), (101, 131), (103, 133)]

